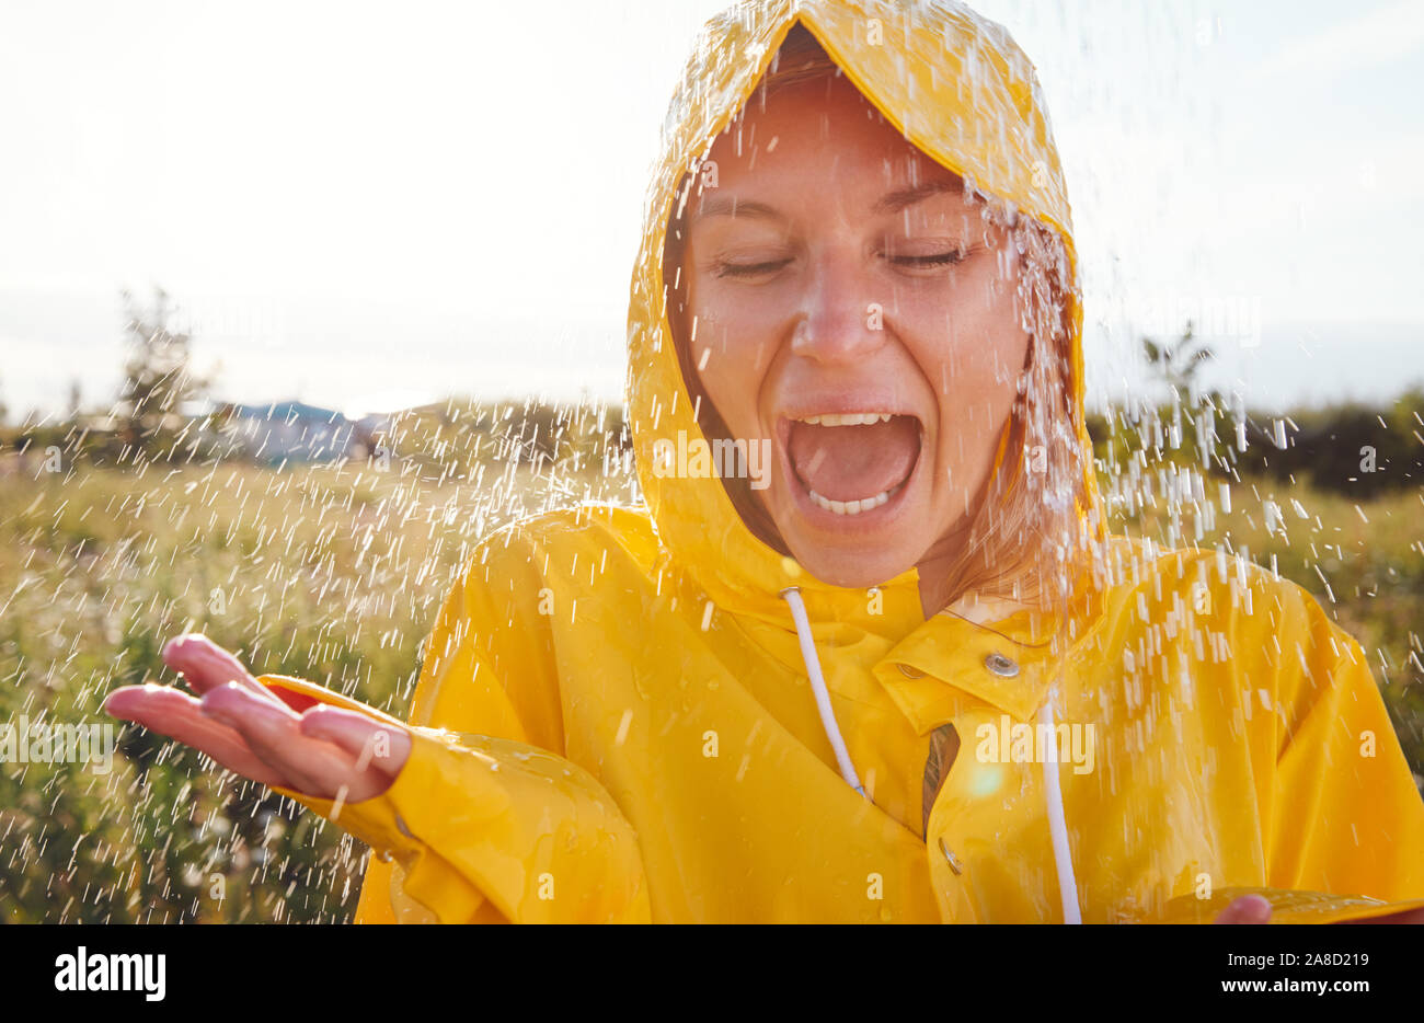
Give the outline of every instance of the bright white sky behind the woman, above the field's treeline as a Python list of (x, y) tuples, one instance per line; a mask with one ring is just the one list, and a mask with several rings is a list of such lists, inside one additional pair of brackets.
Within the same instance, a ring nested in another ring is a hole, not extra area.
[[(656, 130), (722, 6), (6, 0), (0, 399), (111, 399), (154, 284), (225, 398), (618, 398)], [(1040, 68), (1095, 393), (1188, 315), (1259, 405), (1424, 380), (1424, 1), (975, 6)]]

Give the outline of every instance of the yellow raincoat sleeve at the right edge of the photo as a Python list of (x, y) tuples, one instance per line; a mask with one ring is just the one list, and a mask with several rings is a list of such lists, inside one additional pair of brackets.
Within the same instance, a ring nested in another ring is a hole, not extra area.
[(1227, 878), (1155, 918), (1210, 923), (1262, 895), (1273, 923), (1343, 923), (1424, 908), (1424, 799), (1360, 643), (1294, 583), (1255, 588), (1267, 614), (1233, 637), (1265, 885)]

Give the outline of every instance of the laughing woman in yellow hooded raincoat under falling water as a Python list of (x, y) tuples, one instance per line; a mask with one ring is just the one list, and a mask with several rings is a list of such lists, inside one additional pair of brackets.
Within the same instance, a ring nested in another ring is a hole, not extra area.
[(409, 722), (201, 637), (165, 648), (201, 698), (110, 710), (369, 842), (357, 920), (1418, 905), (1424, 804), (1360, 644), (1253, 564), (1105, 530), (1068, 199), (1007, 33), (753, 0), (664, 141), (646, 504), (486, 537)]

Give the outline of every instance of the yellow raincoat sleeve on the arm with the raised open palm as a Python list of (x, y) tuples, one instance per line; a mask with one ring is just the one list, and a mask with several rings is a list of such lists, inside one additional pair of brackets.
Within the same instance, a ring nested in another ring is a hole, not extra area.
[[(477, 550), (430, 635), (410, 758), (392, 786), (345, 806), (278, 791), (372, 846), (357, 923), (645, 922), (632, 826), (592, 775), (553, 752), (564, 747), (551, 640), (530, 624), (547, 623), (540, 587), (508, 580), (496, 593), (476, 581), (480, 563)], [(300, 680), (261, 681), (298, 710), (386, 717)]]

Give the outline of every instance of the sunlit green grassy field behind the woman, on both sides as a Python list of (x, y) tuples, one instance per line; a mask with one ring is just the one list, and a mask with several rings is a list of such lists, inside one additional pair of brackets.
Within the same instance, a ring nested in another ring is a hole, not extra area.
[[(1270, 487), (1236, 484), (1230, 513), (1200, 540), (1188, 520), (1179, 541), (1230, 543), (1317, 594), (1376, 660), (1418, 772), (1424, 496), (1356, 506)], [(420, 644), (470, 546), (584, 497), (628, 490), (597, 467), (515, 462), (487, 463), (474, 480), (400, 460), (11, 466), (0, 477), (0, 724), (108, 721), (103, 695), (168, 680), (158, 650), (189, 630), (259, 671), (403, 715)], [(1272, 500), (1284, 530), (1267, 530)], [(1149, 506), (1115, 527), (1162, 537), (1169, 517)], [(350, 918), (366, 849), (339, 828), (142, 729), (120, 729), (118, 749), (108, 774), (0, 764), (0, 919)]]

